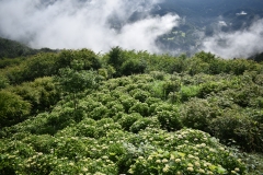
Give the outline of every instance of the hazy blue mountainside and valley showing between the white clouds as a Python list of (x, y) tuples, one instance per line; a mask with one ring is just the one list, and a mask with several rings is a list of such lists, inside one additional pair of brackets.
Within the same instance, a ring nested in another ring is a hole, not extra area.
[[(157, 43), (162, 49), (194, 54), (202, 49), (203, 40), (218, 33), (232, 33), (249, 28), (263, 19), (262, 0), (165, 0), (152, 14), (179, 14), (180, 26), (161, 36)], [(263, 51), (263, 50), (262, 50)]]

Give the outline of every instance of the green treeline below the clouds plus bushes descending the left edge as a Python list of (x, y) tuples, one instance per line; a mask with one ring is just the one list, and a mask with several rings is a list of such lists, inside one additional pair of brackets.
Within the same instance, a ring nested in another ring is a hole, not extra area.
[[(21, 108), (13, 105), (14, 109), (21, 109), (21, 112), (10, 112), (14, 115), (14, 120), (18, 117), (18, 120), (13, 124), (21, 121), (21, 117), (34, 114), (38, 109), (45, 110), (59, 101), (59, 91), (56, 89), (57, 84), (55, 82), (57, 79), (55, 78), (62, 77), (66, 69), (72, 72), (82, 72), (82, 74), (83, 71), (92, 71), (93, 74), (105, 80), (152, 71), (190, 77), (199, 73), (242, 75), (250, 72), (258, 78), (263, 71), (261, 62), (256, 63), (247, 59), (226, 60), (204, 51), (186, 58), (185, 55), (179, 57), (152, 55), (147, 51), (125, 50), (121, 47), (114, 47), (106, 54), (95, 54), (90, 49), (80, 49), (41, 52), (35, 56), (14, 59), (5, 58), (0, 60), (0, 89), (3, 95), (1, 101), (4, 97), (12, 97), (13, 100), (18, 98), (18, 101), (13, 101), (15, 103), (20, 101), (25, 103), (21, 104), (23, 106)], [(70, 73), (66, 79), (70, 79)], [(72, 82), (75, 80), (77, 79), (73, 78)], [(72, 82), (68, 82), (69, 85), (72, 85)], [(80, 88), (77, 84), (76, 89), (78, 86)], [(84, 89), (85, 86), (82, 88), (82, 90)], [(73, 92), (73, 90), (70, 92)], [(23, 108), (25, 110), (22, 110)], [(16, 116), (18, 114), (20, 116)], [(7, 117), (8, 121), (8, 116), (3, 116), (2, 119)], [(8, 122), (1, 122), (0, 125), (1, 127), (9, 126)]]

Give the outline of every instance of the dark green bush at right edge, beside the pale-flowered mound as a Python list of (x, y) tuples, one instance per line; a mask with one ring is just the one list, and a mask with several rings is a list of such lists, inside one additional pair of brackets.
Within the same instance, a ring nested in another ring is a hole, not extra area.
[(263, 125), (242, 113), (225, 110), (222, 116), (211, 120), (209, 129), (213, 135), (220, 138), (225, 143), (233, 140), (233, 144), (238, 144), (245, 151), (262, 150)]

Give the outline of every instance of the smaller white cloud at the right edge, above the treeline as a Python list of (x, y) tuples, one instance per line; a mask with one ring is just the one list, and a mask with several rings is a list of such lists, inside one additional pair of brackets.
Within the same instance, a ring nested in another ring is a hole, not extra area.
[(202, 49), (222, 58), (247, 58), (263, 51), (262, 40), (263, 20), (258, 20), (249, 28), (205, 38)]

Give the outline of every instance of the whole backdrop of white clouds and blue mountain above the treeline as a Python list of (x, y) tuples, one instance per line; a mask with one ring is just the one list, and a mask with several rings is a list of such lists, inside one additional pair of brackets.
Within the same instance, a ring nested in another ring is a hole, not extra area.
[(263, 51), (260, 0), (0, 0), (0, 36), (33, 48)]

